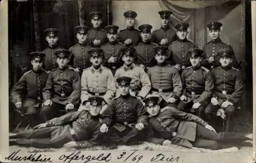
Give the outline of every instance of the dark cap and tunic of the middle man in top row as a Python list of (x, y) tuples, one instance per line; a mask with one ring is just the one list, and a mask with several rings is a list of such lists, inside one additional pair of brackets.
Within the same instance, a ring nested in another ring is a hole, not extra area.
[[(134, 11), (126, 11), (124, 12), (124, 17), (131, 17), (135, 18), (137, 17), (137, 13)], [(127, 45), (127, 46), (136, 46), (140, 42), (140, 31), (135, 29), (134, 27), (129, 28), (127, 27), (126, 29), (120, 30), (118, 33), (117, 41), (124, 43), (126, 39), (132, 39), (132, 43)]]

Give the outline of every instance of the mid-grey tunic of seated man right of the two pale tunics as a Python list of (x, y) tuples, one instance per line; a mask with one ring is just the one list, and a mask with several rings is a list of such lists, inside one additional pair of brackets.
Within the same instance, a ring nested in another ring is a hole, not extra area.
[(152, 88), (163, 90), (170, 89), (169, 92), (152, 91), (152, 95), (161, 97), (164, 101), (168, 101), (169, 98), (174, 97), (179, 99), (182, 92), (182, 83), (180, 75), (174, 66), (156, 65), (148, 68), (147, 75), (151, 80)]

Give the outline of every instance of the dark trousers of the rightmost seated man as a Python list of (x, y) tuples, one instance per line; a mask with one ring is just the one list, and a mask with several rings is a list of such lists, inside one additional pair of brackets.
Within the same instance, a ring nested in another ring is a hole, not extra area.
[(214, 106), (209, 103), (205, 108), (205, 117), (206, 120), (212, 125), (217, 128), (218, 131), (223, 131), (223, 123), (225, 125), (224, 131), (233, 131), (234, 126), (234, 111), (236, 110), (236, 106), (230, 105), (226, 108), (223, 108), (225, 111), (226, 118), (225, 120), (221, 119), (220, 117), (216, 116), (217, 110), (220, 106)]

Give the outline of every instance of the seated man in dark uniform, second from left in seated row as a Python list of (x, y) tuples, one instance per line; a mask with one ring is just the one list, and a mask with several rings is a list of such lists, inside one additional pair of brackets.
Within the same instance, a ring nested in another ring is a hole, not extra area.
[(76, 111), (81, 93), (79, 73), (68, 66), (70, 52), (59, 49), (54, 54), (59, 67), (52, 70), (42, 92), (45, 102), (41, 114), (45, 121)]

